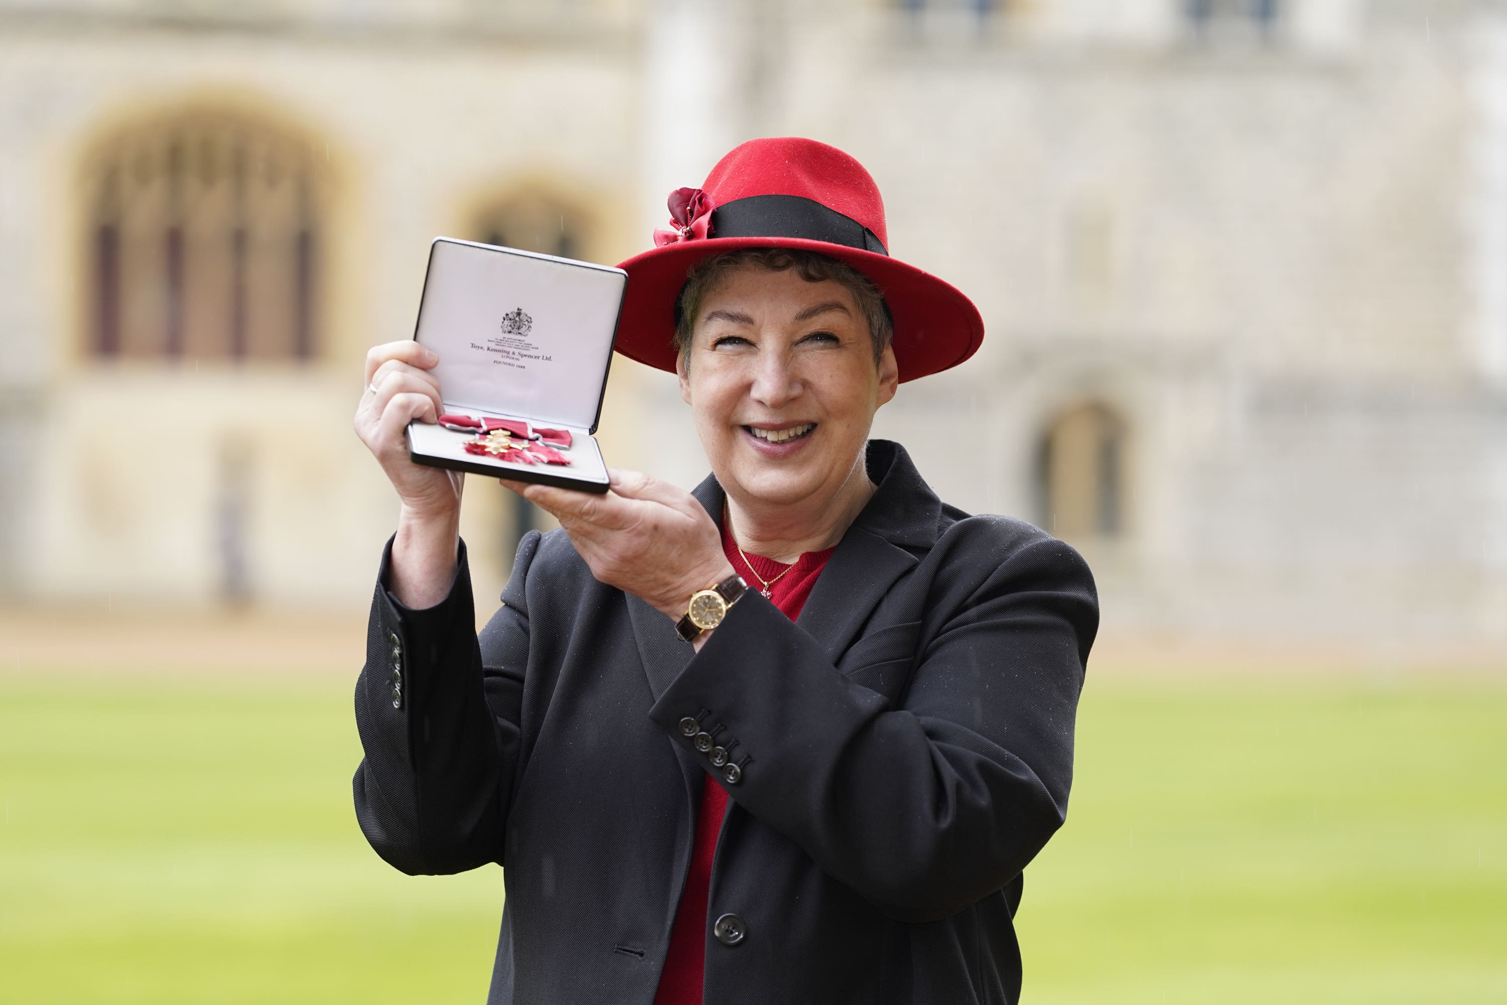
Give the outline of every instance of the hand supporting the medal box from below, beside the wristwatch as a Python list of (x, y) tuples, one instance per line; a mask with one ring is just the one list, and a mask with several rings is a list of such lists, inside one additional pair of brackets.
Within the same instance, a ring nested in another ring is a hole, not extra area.
[(502, 479), (570, 535), (591, 574), (680, 621), (690, 595), (732, 574), (717, 524), (695, 496), (639, 472), (607, 470), (612, 491)]

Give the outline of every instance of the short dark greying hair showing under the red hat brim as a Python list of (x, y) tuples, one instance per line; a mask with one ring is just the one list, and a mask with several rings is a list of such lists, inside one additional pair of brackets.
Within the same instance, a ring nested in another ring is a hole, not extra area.
[(889, 316), (889, 304), (885, 303), (885, 292), (874, 285), (874, 280), (857, 271), (847, 262), (838, 261), (817, 252), (790, 247), (746, 247), (738, 252), (723, 252), (696, 262), (686, 273), (686, 285), (680, 289), (675, 303), (675, 353), (686, 356), (690, 351), (690, 336), (696, 330), (696, 315), (701, 304), (716, 286), (731, 273), (740, 268), (754, 267), (770, 273), (782, 273), (794, 268), (796, 274), (808, 283), (832, 280), (844, 286), (857, 301), (857, 309), (868, 321), (868, 338), (874, 347), (874, 365), (895, 338), (895, 322)]

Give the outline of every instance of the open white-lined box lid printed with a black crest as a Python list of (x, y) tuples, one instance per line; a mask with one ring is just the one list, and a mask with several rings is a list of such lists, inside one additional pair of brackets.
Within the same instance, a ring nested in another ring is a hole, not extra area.
[(597, 431), (628, 274), (434, 238), (413, 338), (440, 362), (445, 407)]

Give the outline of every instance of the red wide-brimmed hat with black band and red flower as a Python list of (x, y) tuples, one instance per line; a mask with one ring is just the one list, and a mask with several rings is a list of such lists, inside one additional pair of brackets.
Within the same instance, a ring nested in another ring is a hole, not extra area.
[(616, 350), (675, 369), (675, 303), (696, 262), (744, 247), (791, 247), (868, 276), (895, 319), (900, 380), (957, 366), (984, 341), (978, 307), (951, 285), (889, 258), (885, 203), (864, 166), (826, 143), (749, 140), (717, 161), (701, 188), (671, 193), (674, 228), (628, 273)]

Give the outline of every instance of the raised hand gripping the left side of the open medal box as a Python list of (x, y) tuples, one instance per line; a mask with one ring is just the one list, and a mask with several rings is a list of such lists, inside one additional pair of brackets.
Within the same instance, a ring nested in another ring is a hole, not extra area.
[(440, 357), (413, 339), (387, 342), (366, 354), (366, 389), (356, 407), (356, 435), (372, 452), (404, 509), (449, 517), (460, 511), (461, 475), (408, 460), (408, 422), (436, 422), (445, 405), (429, 371)]

